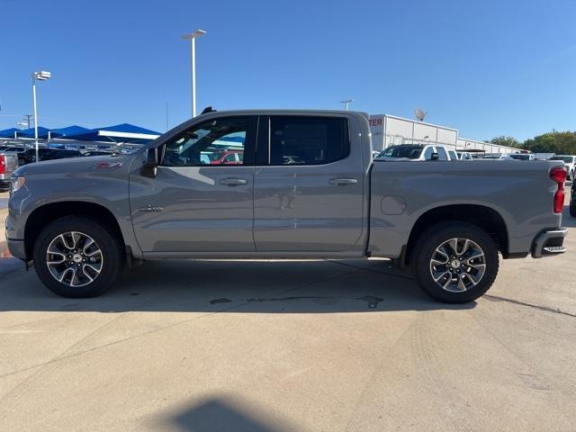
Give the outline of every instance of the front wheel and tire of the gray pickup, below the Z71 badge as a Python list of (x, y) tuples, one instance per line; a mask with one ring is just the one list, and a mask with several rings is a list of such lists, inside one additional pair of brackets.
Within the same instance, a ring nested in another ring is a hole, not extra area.
[[(76, 216), (55, 220), (42, 229), (34, 243), (36, 274), (50, 291), (62, 297), (100, 295), (112, 285), (124, 263), (116, 237), (94, 220)], [(60, 277), (62, 282), (58, 282)]]

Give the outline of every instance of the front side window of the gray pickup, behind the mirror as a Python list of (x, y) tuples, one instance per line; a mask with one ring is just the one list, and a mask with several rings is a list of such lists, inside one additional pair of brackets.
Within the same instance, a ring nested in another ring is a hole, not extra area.
[(204, 121), (166, 143), (161, 166), (242, 165), (248, 117)]

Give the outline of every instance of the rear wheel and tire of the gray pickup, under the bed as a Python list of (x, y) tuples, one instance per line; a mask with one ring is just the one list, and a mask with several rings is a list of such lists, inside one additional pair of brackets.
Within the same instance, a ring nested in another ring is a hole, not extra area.
[(498, 248), (494, 240), (470, 223), (455, 220), (434, 225), (422, 233), (416, 245), (418, 284), (439, 302), (473, 302), (490, 289), (498, 275)]

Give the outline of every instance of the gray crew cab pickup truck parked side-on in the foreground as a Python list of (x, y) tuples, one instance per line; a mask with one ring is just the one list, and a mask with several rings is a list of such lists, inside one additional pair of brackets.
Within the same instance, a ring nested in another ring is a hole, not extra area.
[(374, 160), (362, 112), (212, 111), (130, 155), (21, 166), (6, 238), (67, 297), (142, 260), (385, 257), (470, 302), (499, 253), (564, 252), (564, 177), (561, 162)]

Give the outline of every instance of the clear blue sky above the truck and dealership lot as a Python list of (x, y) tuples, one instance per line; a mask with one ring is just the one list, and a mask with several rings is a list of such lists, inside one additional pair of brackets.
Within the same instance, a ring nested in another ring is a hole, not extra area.
[(166, 130), (198, 106), (338, 109), (452, 126), (471, 139), (574, 130), (573, 0), (0, 0), (0, 129), (132, 122)]

